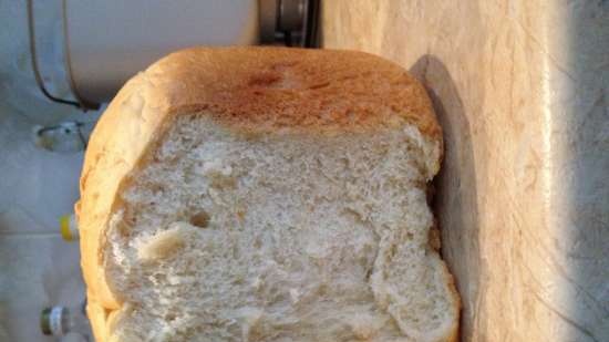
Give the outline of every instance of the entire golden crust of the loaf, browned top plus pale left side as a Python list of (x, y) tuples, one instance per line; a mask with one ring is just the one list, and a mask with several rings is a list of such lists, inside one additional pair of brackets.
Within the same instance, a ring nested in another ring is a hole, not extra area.
[(169, 118), (197, 112), (242, 132), (340, 133), (412, 124), (427, 138), (442, 139), (421, 84), (371, 54), (194, 48), (162, 59), (118, 92), (85, 155), (76, 214), (89, 314), (99, 341), (107, 336), (109, 312), (122, 305), (106, 281), (103, 258), (116, 194)]

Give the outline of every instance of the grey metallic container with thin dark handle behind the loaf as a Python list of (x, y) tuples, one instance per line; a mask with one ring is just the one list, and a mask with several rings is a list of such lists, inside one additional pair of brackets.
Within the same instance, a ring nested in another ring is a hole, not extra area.
[(44, 86), (28, 1), (32, 69), (54, 102), (97, 108), (123, 83), (167, 53), (192, 45), (314, 46), (316, 0), (61, 1), (63, 60), (73, 99)]

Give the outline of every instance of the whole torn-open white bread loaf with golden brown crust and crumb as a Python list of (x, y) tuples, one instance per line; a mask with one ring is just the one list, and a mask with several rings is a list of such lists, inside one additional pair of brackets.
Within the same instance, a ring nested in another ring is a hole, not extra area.
[(104, 341), (455, 341), (432, 243), (442, 132), (361, 52), (196, 48), (128, 81), (76, 204)]

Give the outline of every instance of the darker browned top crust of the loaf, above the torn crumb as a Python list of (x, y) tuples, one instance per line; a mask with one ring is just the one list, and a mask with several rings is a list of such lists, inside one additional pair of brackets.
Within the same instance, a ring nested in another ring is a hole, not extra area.
[(353, 51), (196, 48), (146, 74), (180, 112), (208, 108), (252, 131), (360, 131), (405, 118), (429, 136), (441, 131), (416, 80), (381, 58)]

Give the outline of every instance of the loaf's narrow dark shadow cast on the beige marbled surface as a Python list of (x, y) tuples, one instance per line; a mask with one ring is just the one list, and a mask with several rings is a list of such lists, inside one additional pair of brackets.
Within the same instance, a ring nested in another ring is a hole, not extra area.
[(481, 283), (476, 168), (471, 126), (454, 80), (434, 55), (422, 56), (410, 70), (430, 94), (444, 134), (444, 160), (434, 179), (433, 208), (442, 234), (442, 256), (455, 277), (462, 298), (461, 334), (477, 341), (486, 329), (477, 320), (476, 305)]

